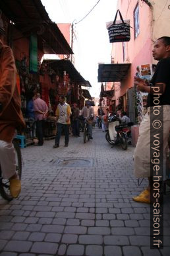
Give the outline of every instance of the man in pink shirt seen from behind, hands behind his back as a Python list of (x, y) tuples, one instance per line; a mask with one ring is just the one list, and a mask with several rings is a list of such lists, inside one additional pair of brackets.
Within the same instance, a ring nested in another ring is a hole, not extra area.
[(33, 104), (36, 120), (36, 135), (38, 136), (38, 144), (35, 144), (35, 146), (43, 146), (43, 130), (48, 107), (45, 101), (41, 99), (40, 93), (36, 94), (36, 99)]

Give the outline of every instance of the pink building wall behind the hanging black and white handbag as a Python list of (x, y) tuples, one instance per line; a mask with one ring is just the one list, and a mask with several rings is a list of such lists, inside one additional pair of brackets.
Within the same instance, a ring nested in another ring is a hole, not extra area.
[[(139, 6), (139, 29), (140, 32), (134, 38), (134, 9)], [(120, 96), (125, 95), (127, 89), (134, 86), (133, 77), (136, 67), (142, 64), (151, 64), (152, 61), (152, 11), (142, 1), (118, 0), (117, 9), (121, 11), (124, 20), (130, 20), (130, 41), (125, 42), (125, 60), (123, 61), (123, 42), (113, 43), (112, 58), (115, 64), (130, 63), (127, 77), (121, 81), (121, 88), (115, 91), (116, 105)], [(117, 17), (119, 20), (119, 17)]]

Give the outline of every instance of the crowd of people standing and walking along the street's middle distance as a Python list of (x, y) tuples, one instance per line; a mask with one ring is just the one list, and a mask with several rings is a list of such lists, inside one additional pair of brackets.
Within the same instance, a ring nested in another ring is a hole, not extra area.
[[(35, 121), (36, 132), (34, 136), (38, 138), (38, 144), (35, 146), (43, 145), (43, 127), (45, 118), (47, 118), (48, 107), (45, 101), (40, 98), (40, 93), (37, 93), (28, 101), (27, 116)], [(92, 140), (93, 126), (101, 128), (103, 132), (108, 129), (108, 118), (113, 113), (103, 111), (101, 107), (98, 108), (98, 115), (94, 114), (94, 108), (90, 105), (90, 101), (86, 101), (86, 105), (80, 110), (76, 103), (70, 106), (65, 101), (64, 96), (59, 97), (59, 105), (55, 112), (56, 116), (56, 136), (55, 145), (53, 148), (59, 148), (59, 142), (62, 132), (65, 134), (65, 147), (69, 146), (69, 134), (72, 133), (73, 137), (80, 137), (80, 131), (84, 132), (84, 121), (88, 124), (89, 138)], [(130, 122), (127, 113), (122, 109), (117, 110), (117, 118), (122, 124)]]

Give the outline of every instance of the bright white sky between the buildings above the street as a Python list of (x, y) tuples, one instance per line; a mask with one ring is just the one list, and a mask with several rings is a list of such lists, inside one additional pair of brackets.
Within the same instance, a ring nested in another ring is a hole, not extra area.
[[(105, 23), (113, 21), (117, 0), (100, 0), (99, 3), (98, 0), (41, 1), (51, 21), (73, 22), (78, 51), (75, 56), (75, 67), (84, 79), (90, 81), (91, 96), (99, 97), (101, 83), (98, 83), (98, 63), (111, 63), (111, 44)], [(80, 21), (93, 7), (92, 12)], [(75, 24), (76, 22), (78, 24)]]

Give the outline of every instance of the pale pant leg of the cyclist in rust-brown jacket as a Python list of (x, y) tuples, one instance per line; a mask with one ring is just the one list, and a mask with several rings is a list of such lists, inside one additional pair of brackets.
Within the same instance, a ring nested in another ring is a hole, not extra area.
[(0, 140), (0, 165), (2, 177), (9, 179), (15, 174), (16, 157), (13, 143)]

